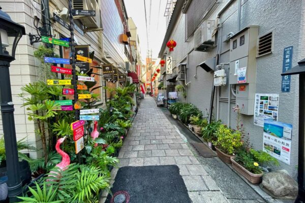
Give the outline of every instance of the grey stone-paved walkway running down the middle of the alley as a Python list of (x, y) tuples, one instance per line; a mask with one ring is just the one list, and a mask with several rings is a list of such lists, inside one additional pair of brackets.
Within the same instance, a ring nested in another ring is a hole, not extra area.
[(119, 167), (176, 164), (194, 203), (228, 202), (153, 97), (141, 100), (118, 158)]

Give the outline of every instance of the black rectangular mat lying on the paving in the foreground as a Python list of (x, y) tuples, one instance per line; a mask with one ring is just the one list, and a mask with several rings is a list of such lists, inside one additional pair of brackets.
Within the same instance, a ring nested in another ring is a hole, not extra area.
[[(121, 167), (111, 191), (128, 192), (130, 203), (192, 202), (177, 165)], [(109, 194), (105, 202), (111, 198)]]

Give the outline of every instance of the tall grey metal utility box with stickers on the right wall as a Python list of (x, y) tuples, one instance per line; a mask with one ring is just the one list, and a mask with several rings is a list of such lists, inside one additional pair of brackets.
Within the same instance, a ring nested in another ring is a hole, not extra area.
[(256, 51), (259, 26), (248, 26), (230, 39), (229, 84), (236, 85), (240, 113), (254, 115)]

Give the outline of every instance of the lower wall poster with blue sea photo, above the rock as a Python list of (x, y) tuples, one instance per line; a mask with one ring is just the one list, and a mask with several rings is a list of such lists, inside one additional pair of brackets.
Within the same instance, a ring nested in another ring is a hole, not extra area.
[(264, 120), (263, 151), (290, 165), (292, 125)]

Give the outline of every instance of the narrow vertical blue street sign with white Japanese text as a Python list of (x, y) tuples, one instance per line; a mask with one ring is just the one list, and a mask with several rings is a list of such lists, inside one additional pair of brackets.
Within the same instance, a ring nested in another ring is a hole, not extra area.
[[(293, 46), (284, 48), (283, 73), (291, 69)], [(290, 92), (290, 77), (282, 76), (282, 92)]]

